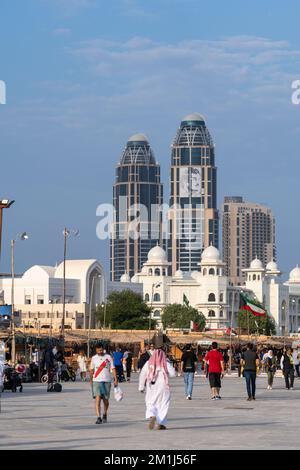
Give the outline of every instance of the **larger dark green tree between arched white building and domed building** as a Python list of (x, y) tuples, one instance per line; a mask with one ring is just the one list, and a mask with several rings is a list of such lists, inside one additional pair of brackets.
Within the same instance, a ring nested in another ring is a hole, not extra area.
[[(104, 308), (101, 305), (96, 310), (96, 319), (103, 325)], [(147, 330), (149, 328), (150, 308), (142, 296), (131, 290), (112, 292), (107, 298), (106, 325), (120, 330)], [(151, 320), (151, 328), (156, 321)]]

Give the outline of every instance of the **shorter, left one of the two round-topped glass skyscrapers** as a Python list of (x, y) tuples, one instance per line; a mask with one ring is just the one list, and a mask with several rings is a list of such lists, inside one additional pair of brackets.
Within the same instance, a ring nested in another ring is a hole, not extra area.
[(163, 186), (148, 139), (130, 137), (116, 169), (111, 280), (139, 272), (153, 246), (162, 245)]

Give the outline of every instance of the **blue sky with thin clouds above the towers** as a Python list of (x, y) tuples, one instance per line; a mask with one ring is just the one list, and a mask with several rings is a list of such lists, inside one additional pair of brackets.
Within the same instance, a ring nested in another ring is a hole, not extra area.
[(144, 132), (168, 192), (181, 118), (206, 116), (224, 195), (272, 207), (280, 267), (300, 262), (300, 4), (240, 0), (1, 0), (0, 196), (22, 271), (62, 257), (62, 229), (80, 230), (71, 257), (98, 258), (96, 207), (112, 198), (127, 138)]

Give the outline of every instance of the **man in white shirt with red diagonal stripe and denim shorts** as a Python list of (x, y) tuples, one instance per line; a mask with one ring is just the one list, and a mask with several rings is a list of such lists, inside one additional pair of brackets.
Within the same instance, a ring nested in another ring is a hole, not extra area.
[[(92, 357), (90, 366), (90, 380), (93, 397), (96, 400), (96, 424), (107, 423), (107, 412), (112, 381), (118, 385), (118, 378), (112, 357), (104, 352), (103, 344), (96, 346), (96, 354)], [(103, 401), (103, 415), (101, 418), (101, 400)]]

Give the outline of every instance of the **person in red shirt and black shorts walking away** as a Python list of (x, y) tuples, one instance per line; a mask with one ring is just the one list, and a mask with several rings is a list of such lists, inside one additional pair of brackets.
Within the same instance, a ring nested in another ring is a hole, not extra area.
[(208, 365), (208, 379), (211, 388), (211, 399), (221, 400), (221, 378), (224, 376), (224, 358), (218, 351), (218, 343), (212, 343), (211, 351), (205, 356), (205, 362)]

